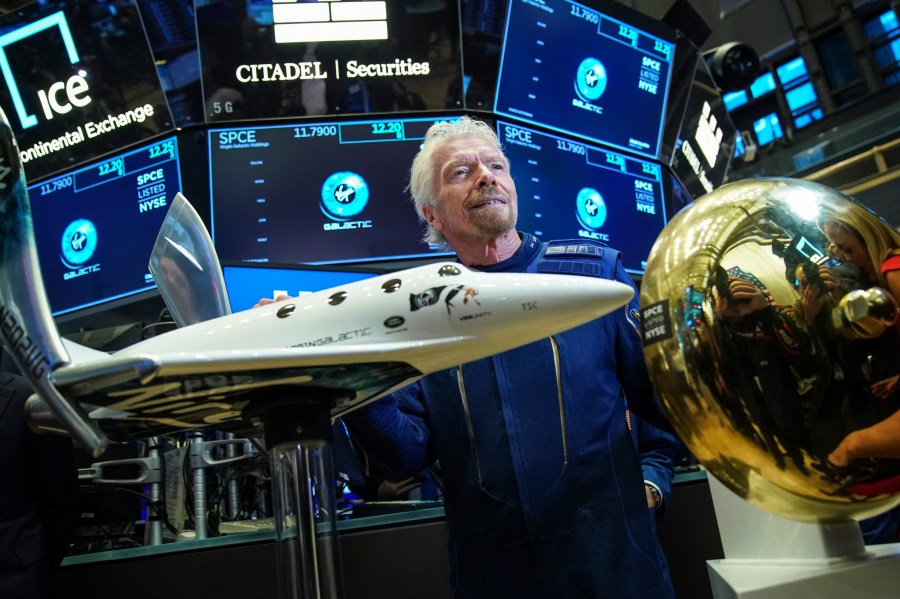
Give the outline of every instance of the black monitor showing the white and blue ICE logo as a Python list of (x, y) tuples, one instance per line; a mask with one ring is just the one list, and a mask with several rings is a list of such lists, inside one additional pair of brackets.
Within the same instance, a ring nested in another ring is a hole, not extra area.
[(0, 17), (0, 107), (29, 181), (173, 129), (132, 0), (34, 2)]

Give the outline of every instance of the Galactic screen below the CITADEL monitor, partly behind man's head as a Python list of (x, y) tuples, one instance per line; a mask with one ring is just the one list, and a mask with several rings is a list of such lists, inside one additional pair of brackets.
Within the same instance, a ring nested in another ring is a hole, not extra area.
[(336, 263), (442, 255), (405, 191), (435, 118), (209, 130), (212, 238), (222, 260)]

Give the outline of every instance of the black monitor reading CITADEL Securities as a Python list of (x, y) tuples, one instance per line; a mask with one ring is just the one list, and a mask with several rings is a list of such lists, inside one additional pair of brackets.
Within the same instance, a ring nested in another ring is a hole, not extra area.
[(195, 5), (210, 122), (438, 110), (462, 87), (458, 0)]

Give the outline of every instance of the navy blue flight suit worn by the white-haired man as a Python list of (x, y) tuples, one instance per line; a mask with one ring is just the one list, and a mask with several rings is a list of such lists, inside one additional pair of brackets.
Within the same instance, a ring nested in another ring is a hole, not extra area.
[[(520, 235), (514, 256), (479, 270), (633, 286), (614, 250)], [(383, 478), (440, 459), (457, 597), (674, 596), (626, 421), (627, 395), (632, 409), (667, 426), (637, 306), (433, 373), (344, 417)]]

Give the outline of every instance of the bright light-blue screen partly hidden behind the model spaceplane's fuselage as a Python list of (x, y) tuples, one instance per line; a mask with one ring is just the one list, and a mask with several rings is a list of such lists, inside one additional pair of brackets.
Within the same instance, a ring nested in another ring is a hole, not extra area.
[(368, 279), (381, 271), (364, 267), (226, 262), (222, 274), (231, 311), (240, 312), (252, 308), (260, 298), (297, 297)]

